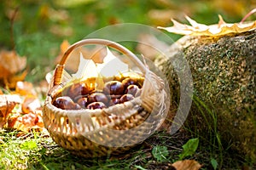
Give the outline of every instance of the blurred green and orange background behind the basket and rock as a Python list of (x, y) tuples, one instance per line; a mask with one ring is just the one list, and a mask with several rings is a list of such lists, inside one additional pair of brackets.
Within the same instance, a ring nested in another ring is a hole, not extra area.
[[(37, 82), (55, 67), (61, 42), (77, 42), (104, 26), (172, 26), (171, 18), (187, 23), (184, 14), (207, 25), (217, 24), (221, 14), (226, 22), (233, 23), (253, 8), (254, 0), (2, 0), (0, 50), (26, 56), (26, 79)], [(255, 19), (253, 14), (247, 20)], [(173, 40), (181, 37), (167, 34)]]

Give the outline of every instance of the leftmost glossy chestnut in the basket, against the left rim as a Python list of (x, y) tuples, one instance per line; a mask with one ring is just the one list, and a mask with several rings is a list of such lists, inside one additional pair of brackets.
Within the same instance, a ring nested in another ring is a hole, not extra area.
[(62, 110), (79, 110), (81, 109), (80, 105), (73, 102), (73, 99), (71, 99), (68, 96), (62, 96), (55, 99), (53, 102), (53, 105), (56, 107), (62, 109)]

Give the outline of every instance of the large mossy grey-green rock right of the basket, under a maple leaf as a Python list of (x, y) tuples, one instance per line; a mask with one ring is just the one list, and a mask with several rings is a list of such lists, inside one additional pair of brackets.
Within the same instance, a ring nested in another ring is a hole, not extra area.
[(154, 63), (169, 81), (172, 109), (180, 99), (175, 59), (186, 59), (193, 77), (185, 129), (207, 139), (218, 136), (221, 147), (255, 161), (256, 30), (219, 37), (184, 36), (168, 52)]

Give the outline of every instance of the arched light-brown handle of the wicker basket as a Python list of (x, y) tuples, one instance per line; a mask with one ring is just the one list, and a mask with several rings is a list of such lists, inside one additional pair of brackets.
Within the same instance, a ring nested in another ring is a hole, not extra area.
[(111, 48), (114, 48), (116, 50), (118, 50), (120, 53), (125, 54), (126, 56), (128, 56), (135, 64), (137, 64), (137, 66), (139, 67), (139, 69), (141, 71), (143, 71), (143, 73), (146, 72), (146, 67), (145, 65), (143, 65), (143, 62), (140, 59), (137, 59), (137, 56), (133, 53), (131, 53), (131, 51), (127, 48), (125, 48), (124, 46), (120, 45), (117, 42), (113, 42), (110, 40), (106, 40), (106, 39), (98, 39), (98, 38), (91, 38), (91, 39), (84, 39), (81, 40), (79, 42), (75, 42), (73, 43), (73, 45), (71, 45), (69, 48), (67, 48), (67, 51), (65, 52), (65, 54), (63, 54), (60, 63), (56, 66), (55, 68), (55, 75), (54, 75), (54, 81), (53, 81), (53, 85), (59, 85), (61, 84), (61, 79), (62, 79), (62, 73), (65, 67), (65, 63), (69, 57), (69, 54), (71, 54), (73, 52), (73, 50), (75, 48), (84, 46), (84, 45), (105, 45)]

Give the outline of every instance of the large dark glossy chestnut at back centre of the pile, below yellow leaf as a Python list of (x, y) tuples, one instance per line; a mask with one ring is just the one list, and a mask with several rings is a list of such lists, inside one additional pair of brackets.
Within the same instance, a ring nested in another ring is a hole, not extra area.
[(103, 88), (103, 93), (104, 94), (114, 94), (114, 95), (118, 95), (118, 94), (123, 94), (124, 93), (124, 86), (122, 84), (122, 82), (119, 81), (110, 81), (110, 82), (106, 82)]

